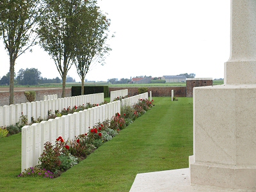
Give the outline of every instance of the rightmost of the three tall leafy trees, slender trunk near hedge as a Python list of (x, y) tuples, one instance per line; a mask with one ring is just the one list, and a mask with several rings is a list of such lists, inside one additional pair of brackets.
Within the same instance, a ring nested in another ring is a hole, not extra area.
[(96, 4), (97, 1), (84, 1), (77, 10), (76, 68), (82, 82), (81, 95), (84, 94), (84, 77), (90, 65), (97, 61), (104, 65), (104, 58), (111, 51), (106, 44), (110, 20)]

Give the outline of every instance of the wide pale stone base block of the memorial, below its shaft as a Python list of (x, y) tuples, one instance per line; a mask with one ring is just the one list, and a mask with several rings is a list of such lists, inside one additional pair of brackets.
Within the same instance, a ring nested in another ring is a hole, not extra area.
[(191, 184), (256, 189), (256, 84), (194, 89)]

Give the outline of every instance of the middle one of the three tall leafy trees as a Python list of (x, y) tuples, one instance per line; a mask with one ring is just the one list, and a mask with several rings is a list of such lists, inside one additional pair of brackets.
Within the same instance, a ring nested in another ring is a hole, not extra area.
[[(77, 7), (79, 0), (42, 0), (44, 13), (37, 30), (41, 47), (49, 53), (62, 79), (65, 97), (67, 72), (74, 63), (74, 43), (77, 39)], [(75, 38), (76, 37), (76, 38)]]

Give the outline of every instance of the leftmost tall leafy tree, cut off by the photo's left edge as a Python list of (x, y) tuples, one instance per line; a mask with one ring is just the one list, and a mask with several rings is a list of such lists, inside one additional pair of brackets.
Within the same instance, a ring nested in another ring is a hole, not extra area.
[(10, 99), (13, 104), (16, 59), (35, 45), (34, 29), (40, 14), (40, 0), (6, 0), (0, 3), (0, 35), (10, 58)]

